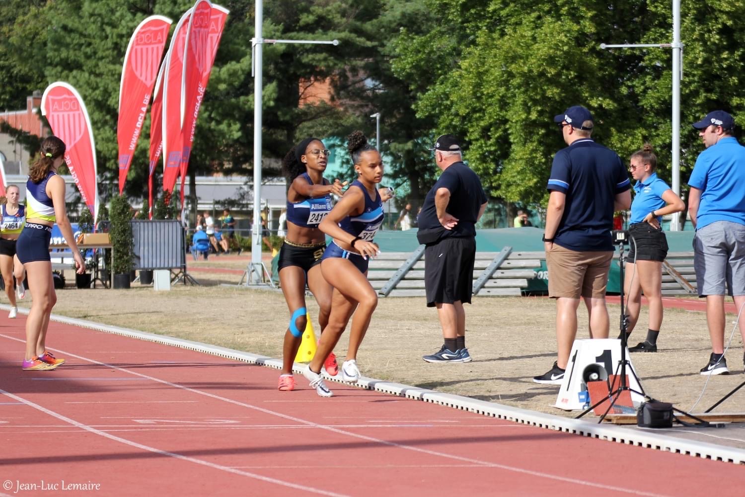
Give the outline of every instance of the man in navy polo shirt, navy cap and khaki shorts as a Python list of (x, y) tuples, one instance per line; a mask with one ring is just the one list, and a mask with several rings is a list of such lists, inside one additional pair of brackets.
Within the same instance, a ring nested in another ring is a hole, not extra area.
[(558, 359), (533, 382), (561, 384), (577, 335), (580, 297), (587, 306), (592, 338), (608, 338), (605, 292), (613, 257), (613, 212), (631, 206), (630, 181), (621, 157), (590, 138), (594, 126), (585, 107), (554, 117), (568, 145), (558, 151), (548, 179), (543, 235), (548, 296), (557, 300)]

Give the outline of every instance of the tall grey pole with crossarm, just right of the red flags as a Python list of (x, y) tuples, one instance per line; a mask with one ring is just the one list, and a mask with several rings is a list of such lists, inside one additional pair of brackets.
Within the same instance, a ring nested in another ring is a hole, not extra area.
[[(271, 283), (270, 273), (261, 262), (261, 66), (264, 43), (317, 43), (338, 45), (339, 40), (329, 42), (314, 40), (264, 39), (262, 25), (264, 22), (264, 5), (256, 0), (255, 35), (251, 39), (253, 48), (253, 233), (251, 237), (251, 263), (244, 273), (247, 285), (264, 285), (264, 276)], [(268, 222), (268, 220), (267, 220)], [(241, 279), (243, 282), (243, 279)]]

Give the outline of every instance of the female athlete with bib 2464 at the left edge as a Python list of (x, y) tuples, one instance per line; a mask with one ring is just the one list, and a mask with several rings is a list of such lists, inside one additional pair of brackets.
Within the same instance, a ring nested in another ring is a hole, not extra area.
[[(16, 255), (16, 240), (21, 234), (25, 221), (25, 207), (18, 203), (20, 191), (18, 186), (10, 185), (5, 189), (6, 202), (2, 204), (0, 214), (0, 272), (5, 283), (5, 294), (10, 300), (11, 319), (18, 314), (16, 291), (13, 289), (13, 256)], [(18, 282), (18, 297), (23, 298), (23, 282)]]

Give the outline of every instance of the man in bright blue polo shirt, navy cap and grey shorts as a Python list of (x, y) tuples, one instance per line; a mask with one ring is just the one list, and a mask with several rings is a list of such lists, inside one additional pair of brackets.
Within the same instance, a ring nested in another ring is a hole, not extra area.
[[(688, 218), (696, 227), (696, 286), (699, 297), (706, 297), (712, 351), (701, 374), (729, 374), (724, 294), (732, 295), (738, 311), (745, 303), (745, 147), (732, 136), (735, 120), (723, 110), (708, 113), (693, 126), (706, 147), (688, 180)], [(739, 325), (745, 339), (744, 317)]]

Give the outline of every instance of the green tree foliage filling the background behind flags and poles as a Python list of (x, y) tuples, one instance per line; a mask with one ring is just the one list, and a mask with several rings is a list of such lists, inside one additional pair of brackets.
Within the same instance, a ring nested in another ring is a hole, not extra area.
[[(189, 172), (253, 174), (253, 0), (230, 10), (200, 110)], [(7, 0), (0, 3), (0, 104), (19, 108), (54, 80), (75, 86), (94, 128), (101, 179), (117, 171), (121, 63), (136, 25), (175, 21), (188, 0)], [(681, 183), (703, 145), (690, 123), (709, 110), (745, 122), (741, 1), (682, 0)], [(281, 158), (304, 136), (372, 135), (380, 112), (389, 177), (413, 199), (434, 182), (426, 150), (454, 133), (492, 198), (545, 201), (551, 158), (564, 146), (552, 117), (592, 110), (594, 138), (629, 156), (650, 142), (670, 179), (671, 50), (602, 50), (600, 43), (672, 39), (670, 1), (273, 0), (264, 38), (339, 39), (340, 45), (264, 45), (264, 156)], [(305, 101), (328, 81), (330, 101)], [(149, 118), (127, 180), (142, 197)], [(29, 144), (28, 146), (32, 146)], [(264, 167), (270, 168), (270, 164)], [(278, 171), (267, 171), (272, 174)], [(405, 202), (405, 199), (399, 201)]]

